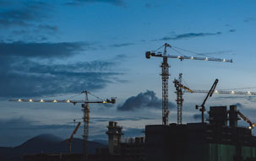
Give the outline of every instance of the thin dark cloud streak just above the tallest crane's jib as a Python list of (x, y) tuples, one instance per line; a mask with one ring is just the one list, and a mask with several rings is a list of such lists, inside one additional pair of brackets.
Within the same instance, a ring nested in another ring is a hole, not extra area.
[(221, 32), (216, 33), (186, 33), (181, 35), (174, 35), (174, 36), (166, 36), (161, 38), (160, 40), (181, 40), (181, 39), (191, 39), (196, 37), (204, 37), (210, 35), (221, 35)]

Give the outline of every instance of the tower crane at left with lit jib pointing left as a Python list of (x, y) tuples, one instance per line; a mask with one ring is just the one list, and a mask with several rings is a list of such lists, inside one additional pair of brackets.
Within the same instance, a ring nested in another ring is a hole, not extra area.
[[(69, 100), (69, 99), (10, 99), (9, 101), (18, 101), (18, 102), (39, 102), (39, 103), (73, 103), (82, 104), (82, 110), (84, 112), (83, 121), (84, 121), (84, 134), (83, 134), (83, 155), (84, 161), (88, 160), (88, 137), (89, 137), (89, 121), (90, 121), (90, 108), (89, 104), (107, 104), (107, 103), (116, 103), (116, 99), (112, 97), (112, 99), (103, 100), (99, 97), (96, 97), (94, 94), (91, 94), (88, 91), (82, 91), (81, 94), (85, 94), (85, 100)], [(97, 99), (101, 99), (101, 101), (89, 101), (88, 94), (96, 97)]]

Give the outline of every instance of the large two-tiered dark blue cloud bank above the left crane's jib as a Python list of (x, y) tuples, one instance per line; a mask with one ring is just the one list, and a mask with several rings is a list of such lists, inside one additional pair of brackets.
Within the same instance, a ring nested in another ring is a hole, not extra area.
[(68, 60), (84, 43), (0, 43), (0, 97), (26, 97), (103, 89), (122, 73), (114, 62), (53, 63)]

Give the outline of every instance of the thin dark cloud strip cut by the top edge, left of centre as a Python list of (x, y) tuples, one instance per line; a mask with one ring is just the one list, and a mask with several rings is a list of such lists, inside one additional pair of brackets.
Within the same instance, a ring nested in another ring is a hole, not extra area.
[(65, 4), (77, 6), (77, 5), (80, 5), (83, 3), (110, 3), (115, 6), (124, 6), (125, 5), (123, 0), (73, 0), (73, 1), (69, 1), (68, 3), (65, 3)]

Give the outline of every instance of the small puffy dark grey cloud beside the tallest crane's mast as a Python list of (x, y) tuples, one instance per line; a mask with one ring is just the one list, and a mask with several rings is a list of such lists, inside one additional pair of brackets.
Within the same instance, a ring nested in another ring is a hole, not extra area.
[[(132, 96), (123, 103), (118, 105), (117, 110), (139, 110), (144, 108), (157, 108), (161, 109), (162, 100), (157, 98), (154, 91), (147, 90), (144, 93), (140, 93), (136, 96)], [(173, 108), (175, 105), (169, 102), (169, 107)]]

